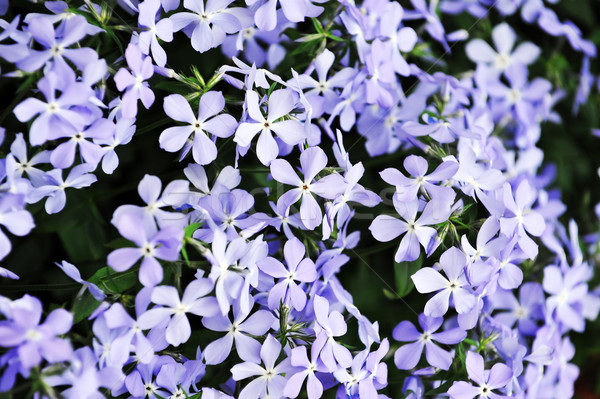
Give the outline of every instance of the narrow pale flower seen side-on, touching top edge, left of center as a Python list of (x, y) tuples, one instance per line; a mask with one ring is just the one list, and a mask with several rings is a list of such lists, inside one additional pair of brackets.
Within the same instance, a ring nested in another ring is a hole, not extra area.
[(156, 15), (160, 10), (160, 0), (146, 0), (139, 5), (138, 24), (146, 30), (140, 32), (138, 46), (142, 54), (150, 54), (156, 65), (164, 67), (167, 63), (167, 54), (158, 43), (158, 39), (165, 42), (173, 40), (173, 22), (164, 18), (156, 22)]

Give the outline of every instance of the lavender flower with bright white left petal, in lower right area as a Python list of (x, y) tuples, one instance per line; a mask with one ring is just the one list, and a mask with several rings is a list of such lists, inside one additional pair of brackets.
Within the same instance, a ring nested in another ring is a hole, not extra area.
[(424, 267), (411, 277), (420, 293), (437, 292), (425, 304), (425, 315), (430, 317), (445, 315), (448, 311), (450, 295), (459, 314), (469, 312), (475, 306), (475, 296), (469, 289), (465, 276), (467, 257), (460, 249), (452, 247), (442, 254), (440, 265), (447, 278), (432, 267)]

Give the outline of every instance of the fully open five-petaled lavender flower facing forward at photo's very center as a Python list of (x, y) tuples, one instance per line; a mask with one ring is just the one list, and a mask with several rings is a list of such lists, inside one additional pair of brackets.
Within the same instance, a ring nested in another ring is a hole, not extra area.
[(307, 148), (300, 154), (300, 170), (304, 175), (300, 179), (292, 165), (284, 159), (271, 162), (271, 175), (281, 183), (295, 186), (283, 194), (277, 203), (282, 203), (284, 208), (289, 208), (302, 198), (300, 217), (304, 226), (313, 230), (321, 224), (323, 213), (313, 194), (326, 199), (334, 199), (345, 189), (343, 178), (337, 174), (327, 175), (313, 182), (319, 172), (327, 166), (327, 155), (319, 147)]

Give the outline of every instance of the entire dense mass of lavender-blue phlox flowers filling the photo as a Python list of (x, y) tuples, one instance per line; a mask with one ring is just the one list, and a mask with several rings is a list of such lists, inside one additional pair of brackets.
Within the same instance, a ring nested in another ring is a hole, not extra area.
[[(583, 58), (577, 109), (596, 48), (541, 0), (16, 3), (0, 0), (1, 79), (20, 85), (14, 121), (0, 114), (0, 260), (5, 231), (27, 236), (71, 189), (123, 173), (117, 148), (142, 134), (175, 167), (129, 181), (140, 200), (111, 210), (105, 267), (85, 280), (57, 263), (80, 287), (70, 312), (0, 296), (0, 392), (573, 395), (568, 334), (600, 292), (538, 148), (565, 93), (508, 23), (445, 28), (496, 13), (565, 37)], [(428, 66), (451, 50), (468, 70)], [(205, 79), (186, 52), (225, 61)], [(344, 286), (361, 239), (394, 247), (373, 265), (396, 271), (392, 297), (422, 299), (391, 312), (393, 331)]]

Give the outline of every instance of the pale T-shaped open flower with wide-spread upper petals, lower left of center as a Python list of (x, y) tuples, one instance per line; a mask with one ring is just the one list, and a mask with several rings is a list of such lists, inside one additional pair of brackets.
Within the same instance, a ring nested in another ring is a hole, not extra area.
[(206, 297), (213, 290), (209, 279), (196, 279), (188, 284), (179, 299), (175, 287), (161, 285), (152, 289), (152, 302), (163, 307), (154, 307), (138, 318), (140, 328), (148, 329), (169, 319), (165, 338), (173, 346), (179, 346), (190, 338), (192, 328), (186, 314), (211, 317), (219, 307), (214, 297)]

